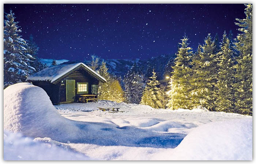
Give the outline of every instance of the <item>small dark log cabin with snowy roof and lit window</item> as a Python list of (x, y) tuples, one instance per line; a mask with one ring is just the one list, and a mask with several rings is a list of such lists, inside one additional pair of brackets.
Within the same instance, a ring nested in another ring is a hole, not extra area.
[(43, 88), (53, 104), (76, 102), (86, 94), (97, 98), (99, 82), (106, 83), (106, 79), (81, 62), (49, 66), (26, 81)]

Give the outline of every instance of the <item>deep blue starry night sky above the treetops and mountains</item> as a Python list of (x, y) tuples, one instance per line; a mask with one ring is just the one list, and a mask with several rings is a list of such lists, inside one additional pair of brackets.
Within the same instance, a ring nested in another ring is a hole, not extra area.
[(196, 50), (208, 33), (235, 37), (235, 18), (245, 18), (243, 4), (4, 4), (10, 9), (38, 57), (56, 60), (174, 54), (184, 33)]

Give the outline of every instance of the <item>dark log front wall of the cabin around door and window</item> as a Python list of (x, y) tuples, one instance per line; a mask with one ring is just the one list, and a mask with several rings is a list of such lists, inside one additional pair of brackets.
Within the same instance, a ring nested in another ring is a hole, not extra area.
[[(58, 84), (60, 86), (60, 102), (66, 102), (66, 80), (75, 80), (75, 95), (78, 100), (79, 94), (76, 94), (77, 86), (76, 83), (88, 83), (88, 94), (91, 94), (91, 85), (99, 85), (99, 80), (91, 76), (86, 70), (79, 69), (70, 74), (65, 79), (61, 80)], [(75, 100), (75, 101), (76, 101)]]

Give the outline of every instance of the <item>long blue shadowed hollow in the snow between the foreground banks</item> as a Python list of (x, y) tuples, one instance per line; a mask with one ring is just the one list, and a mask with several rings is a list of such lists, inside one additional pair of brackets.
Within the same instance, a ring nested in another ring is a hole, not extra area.
[(135, 126), (119, 127), (114, 123), (74, 121), (80, 134), (71, 143), (101, 146), (135, 146), (153, 148), (175, 148), (186, 134), (163, 133)]

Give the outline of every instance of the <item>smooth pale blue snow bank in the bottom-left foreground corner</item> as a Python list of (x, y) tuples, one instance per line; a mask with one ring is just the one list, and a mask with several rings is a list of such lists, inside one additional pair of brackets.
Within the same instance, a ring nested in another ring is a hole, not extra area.
[(4, 160), (90, 160), (74, 150), (63, 148), (54, 142), (33, 141), (22, 134), (4, 131)]

